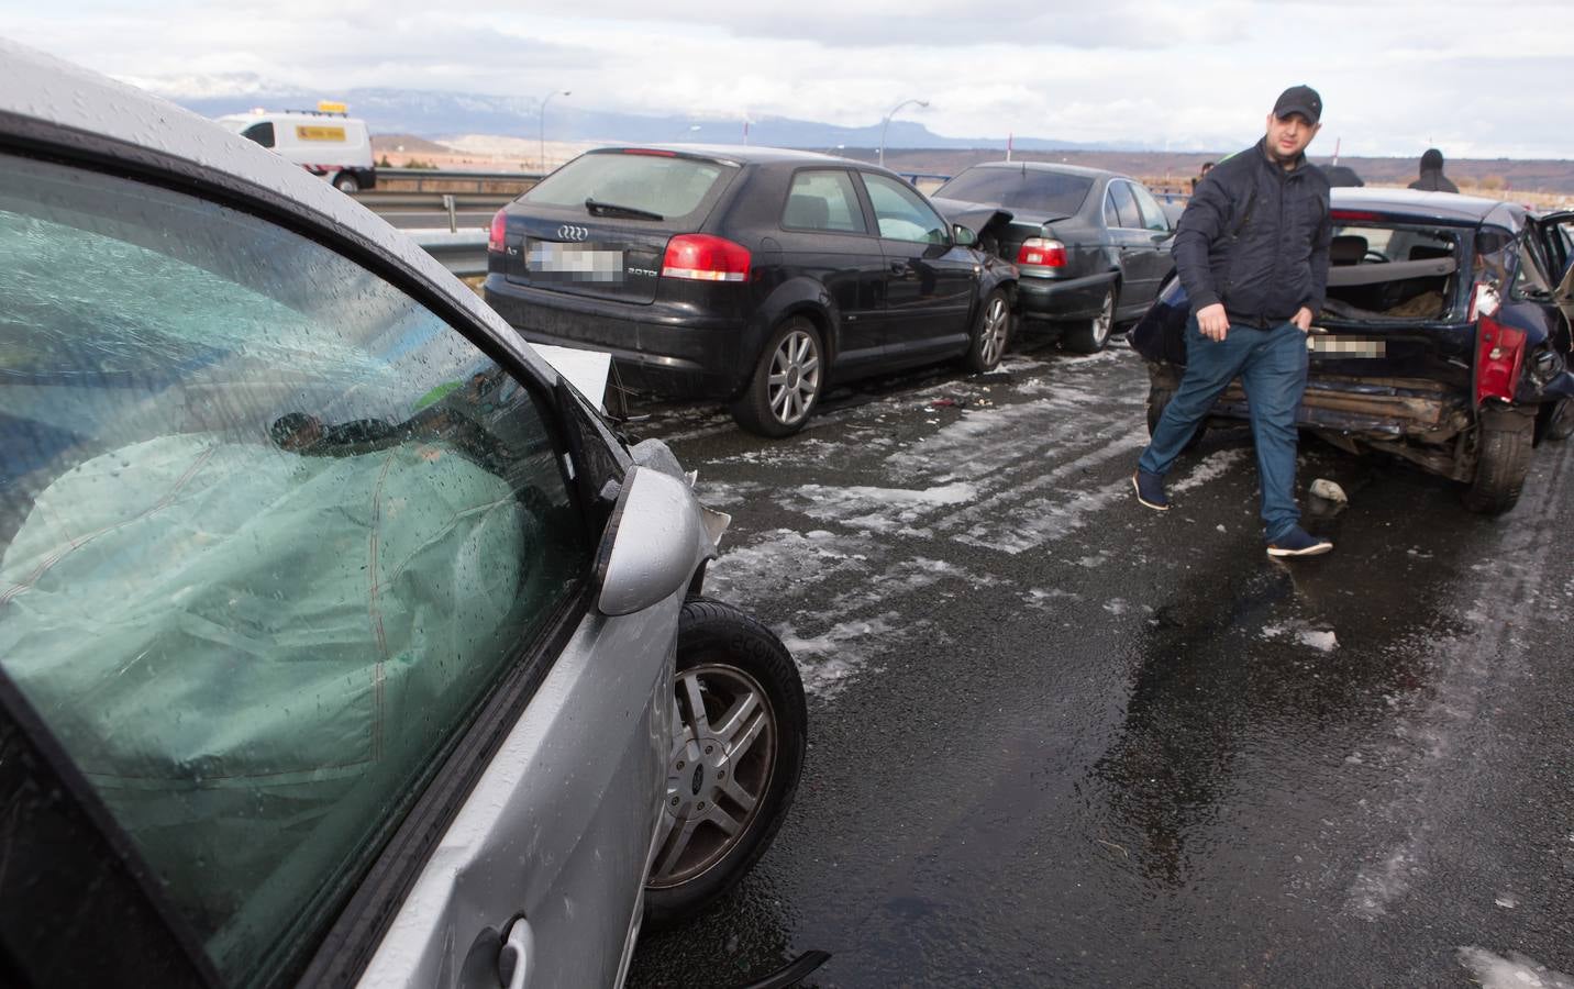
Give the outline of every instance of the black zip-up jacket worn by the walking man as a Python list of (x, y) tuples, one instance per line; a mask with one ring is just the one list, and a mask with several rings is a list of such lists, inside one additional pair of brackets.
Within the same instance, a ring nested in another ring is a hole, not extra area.
[(1328, 180), (1302, 156), (1289, 172), (1264, 142), (1214, 165), (1180, 214), (1174, 258), (1192, 309), (1223, 302), (1231, 323), (1272, 326), (1328, 283)]

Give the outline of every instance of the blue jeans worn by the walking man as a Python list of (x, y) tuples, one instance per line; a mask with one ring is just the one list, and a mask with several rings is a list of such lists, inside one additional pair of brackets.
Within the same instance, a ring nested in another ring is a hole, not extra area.
[(1214, 408), (1218, 394), (1239, 375), (1251, 409), (1262, 483), (1262, 532), (1269, 542), (1300, 521), (1295, 507), (1295, 409), (1306, 391), (1306, 334), (1294, 323), (1267, 329), (1231, 326), (1223, 340), (1209, 340), (1185, 324), (1185, 375), (1154, 428), (1138, 466), (1165, 474)]

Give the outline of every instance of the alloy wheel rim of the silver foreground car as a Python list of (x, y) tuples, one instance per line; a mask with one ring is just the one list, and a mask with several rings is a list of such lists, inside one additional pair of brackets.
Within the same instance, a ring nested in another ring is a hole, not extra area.
[(705, 874), (743, 841), (776, 765), (776, 713), (760, 683), (724, 665), (677, 677), (667, 800), (647, 885)]

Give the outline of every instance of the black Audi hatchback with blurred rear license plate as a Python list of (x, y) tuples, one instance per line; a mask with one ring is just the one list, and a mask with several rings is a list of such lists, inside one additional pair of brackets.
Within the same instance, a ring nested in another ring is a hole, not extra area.
[(1017, 269), (896, 173), (779, 148), (600, 148), (493, 219), (485, 298), (527, 340), (785, 436), (836, 383), (993, 369)]

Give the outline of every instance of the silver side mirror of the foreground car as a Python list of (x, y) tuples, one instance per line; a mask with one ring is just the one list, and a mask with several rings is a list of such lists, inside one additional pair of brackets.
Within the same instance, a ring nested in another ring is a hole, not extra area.
[(644, 611), (672, 597), (715, 554), (688, 485), (653, 468), (631, 468), (597, 548), (597, 608), (612, 616)]

